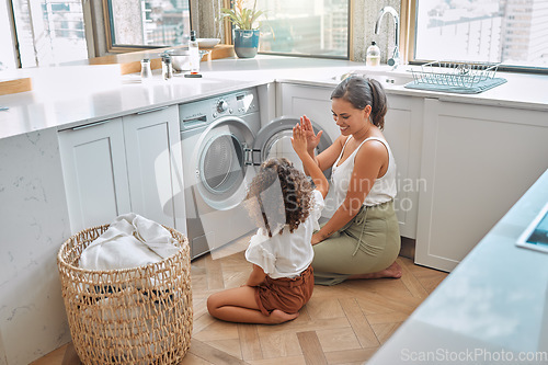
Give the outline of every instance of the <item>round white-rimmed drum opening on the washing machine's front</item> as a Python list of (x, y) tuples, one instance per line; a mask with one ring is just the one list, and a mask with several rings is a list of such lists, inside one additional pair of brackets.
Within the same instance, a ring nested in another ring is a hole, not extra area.
[(246, 197), (250, 181), (246, 155), (253, 139), (252, 130), (236, 116), (219, 118), (203, 132), (192, 162), (195, 187), (212, 208), (231, 209)]

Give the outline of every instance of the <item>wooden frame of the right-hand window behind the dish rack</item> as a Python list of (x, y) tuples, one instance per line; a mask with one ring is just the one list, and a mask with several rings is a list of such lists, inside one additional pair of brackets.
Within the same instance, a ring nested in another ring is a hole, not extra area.
[[(414, 57), (414, 48), (416, 44), (416, 1), (419, 0), (401, 0), (401, 32), (400, 32), (400, 55), (404, 55), (404, 62), (409, 65), (424, 65), (436, 61), (438, 59), (416, 59)], [(520, 72), (520, 73), (539, 73), (548, 75), (548, 67), (533, 66), (514, 66), (501, 64), (498, 67), (499, 71)]]

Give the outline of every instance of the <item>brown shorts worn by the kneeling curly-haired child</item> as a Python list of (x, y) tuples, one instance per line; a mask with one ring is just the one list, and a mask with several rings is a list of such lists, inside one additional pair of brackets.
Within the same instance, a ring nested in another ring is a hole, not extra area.
[(313, 290), (313, 271), (308, 266), (299, 277), (271, 278), (255, 286), (255, 300), (259, 309), (269, 316), (274, 309), (296, 313), (305, 306)]

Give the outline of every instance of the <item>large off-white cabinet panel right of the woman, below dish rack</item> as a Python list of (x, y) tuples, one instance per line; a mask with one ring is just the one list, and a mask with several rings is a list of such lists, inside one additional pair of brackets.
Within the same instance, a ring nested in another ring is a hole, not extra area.
[(548, 168), (547, 113), (426, 99), (415, 262), (444, 271)]

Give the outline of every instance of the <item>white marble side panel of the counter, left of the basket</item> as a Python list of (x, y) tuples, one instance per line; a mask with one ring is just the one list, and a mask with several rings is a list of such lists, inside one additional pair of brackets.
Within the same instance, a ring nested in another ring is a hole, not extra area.
[(0, 364), (70, 341), (57, 252), (70, 237), (57, 130), (0, 144)]

